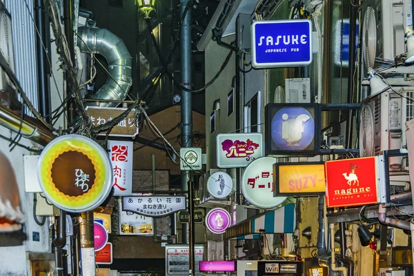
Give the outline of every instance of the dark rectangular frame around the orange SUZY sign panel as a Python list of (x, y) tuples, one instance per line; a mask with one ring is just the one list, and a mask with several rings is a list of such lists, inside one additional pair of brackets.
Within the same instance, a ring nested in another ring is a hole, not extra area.
[(293, 193), (281, 193), (279, 192), (280, 190), (280, 178), (279, 178), (279, 168), (281, 166), (314, 166), (314, 165), (320, 165), (322, 167), (322, 171), (324, 173), (325, 168), (324, 168), (324, 161), (312, 161), (312, 162), (291, 162), (291, 163), (275, 163), (273, 164), (273, 184), (274, 184), (274, 188), (273, 188), (273, 197), (302, 197), (302, 196), (319, 196), (319, 195), (325, 195), (325, 181), (326, 179), (324, 178), (324, 191), (323, 192), (311, 192), (311, 193), (297, 193), (297, 192), (293, 192)]

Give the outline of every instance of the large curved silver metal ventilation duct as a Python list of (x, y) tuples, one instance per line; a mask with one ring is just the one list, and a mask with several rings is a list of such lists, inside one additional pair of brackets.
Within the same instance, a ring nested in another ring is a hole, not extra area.
[[(124, 100), (132, 86), (132, 57), (124, 41), (106, 29), (95, 27), (81, 27), (78, 34), (81, 39), (77, 39), (77, 46), (81, 52), (91, 51), (105, 57), (108, 61), (108, 72), (113, 77), (108, 77), (92, 99)], [(118, 104), (101, 103), (101, 106), (115, 107)]]

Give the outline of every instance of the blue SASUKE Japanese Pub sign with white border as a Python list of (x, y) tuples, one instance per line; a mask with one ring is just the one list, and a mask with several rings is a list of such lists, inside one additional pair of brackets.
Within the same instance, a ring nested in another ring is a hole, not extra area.
[(308, 19), (255, 21), (254, 68), (307, 66), (312, 62), (312, 22)]

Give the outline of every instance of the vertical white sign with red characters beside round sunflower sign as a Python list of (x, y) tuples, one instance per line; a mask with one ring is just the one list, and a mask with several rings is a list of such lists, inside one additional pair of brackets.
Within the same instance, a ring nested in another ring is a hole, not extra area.
[(132, 157), (134, 143), (132, 141), (108, 141), (114, 195), (132, 194)]

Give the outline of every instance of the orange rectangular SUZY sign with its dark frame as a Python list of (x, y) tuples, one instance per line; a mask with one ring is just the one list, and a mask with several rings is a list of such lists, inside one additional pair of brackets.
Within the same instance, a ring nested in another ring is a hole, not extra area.
[(323, 162), (276, 163), (273, 165), (273, 196), (323, 195)]

